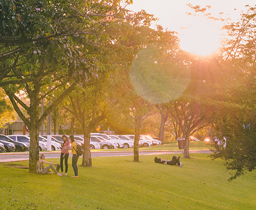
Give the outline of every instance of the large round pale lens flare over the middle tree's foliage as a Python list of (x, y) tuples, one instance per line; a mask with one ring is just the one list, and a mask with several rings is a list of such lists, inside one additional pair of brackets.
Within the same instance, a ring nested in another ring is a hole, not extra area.
[(161, 53), (148, 47), (134, 58), (130, 80), (137, 95), (159, 104), (179, 98), (190, 82), (190, 73), (184, 66), (161, 57)]

